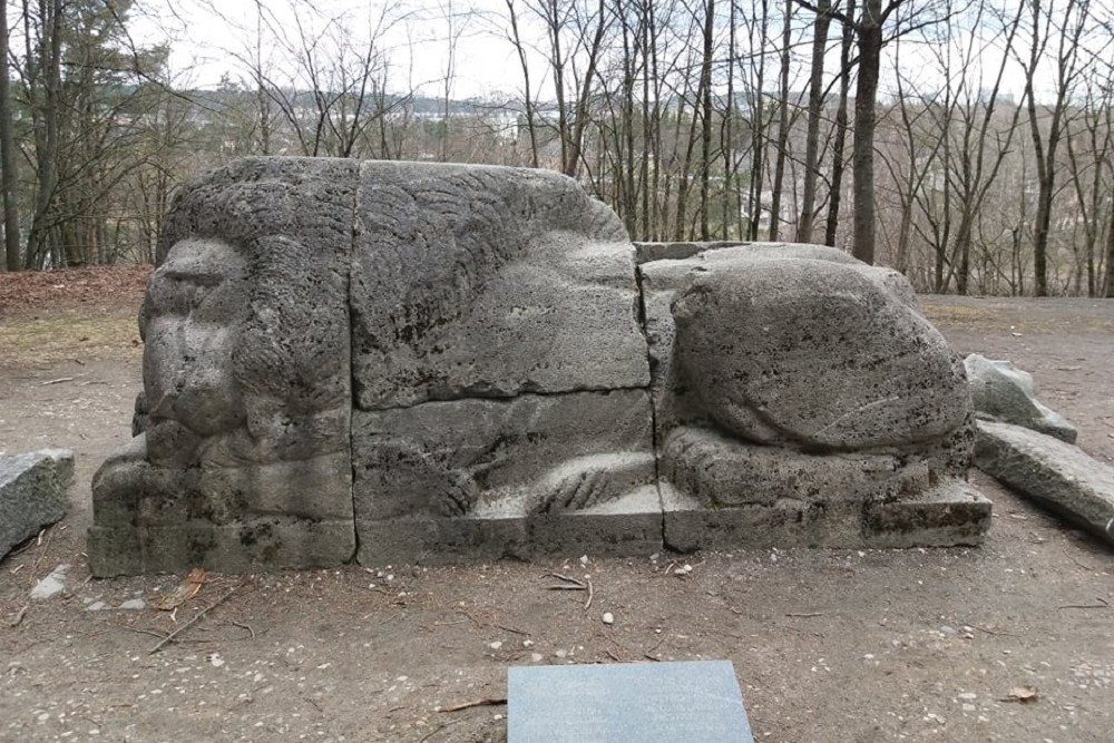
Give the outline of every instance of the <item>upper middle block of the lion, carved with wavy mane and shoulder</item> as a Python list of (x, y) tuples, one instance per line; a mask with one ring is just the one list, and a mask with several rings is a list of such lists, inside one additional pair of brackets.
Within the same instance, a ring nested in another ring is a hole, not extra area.
[(356, 407), (644, 387), (634, 247), (544, 170), (364, 163)]

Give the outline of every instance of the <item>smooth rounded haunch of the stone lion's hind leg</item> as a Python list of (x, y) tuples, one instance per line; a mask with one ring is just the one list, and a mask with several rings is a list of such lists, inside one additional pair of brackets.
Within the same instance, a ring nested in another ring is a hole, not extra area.
[(903, 448), (946, 437), (970, 410), (939, 332), (854, 267), (754, 261), (694, 274), (672, 307), (695, 399), (743, 439)]

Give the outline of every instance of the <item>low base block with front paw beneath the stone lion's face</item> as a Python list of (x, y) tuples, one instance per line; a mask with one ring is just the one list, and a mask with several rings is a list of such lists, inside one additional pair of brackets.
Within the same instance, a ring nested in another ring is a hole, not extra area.
[(345, 454), (178, 470), (146, 461), (145, 438), (94, 476), (94, 575), (332, 567), (355, 554)]

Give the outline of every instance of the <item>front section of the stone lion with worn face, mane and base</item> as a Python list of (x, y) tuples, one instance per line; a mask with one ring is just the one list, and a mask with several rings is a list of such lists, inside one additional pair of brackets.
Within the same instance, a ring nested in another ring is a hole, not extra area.
[(94, 479), (95, 575), (351, 559), (358, 173), (248, 158), (176, 196), (140, 313), (140, 436)]

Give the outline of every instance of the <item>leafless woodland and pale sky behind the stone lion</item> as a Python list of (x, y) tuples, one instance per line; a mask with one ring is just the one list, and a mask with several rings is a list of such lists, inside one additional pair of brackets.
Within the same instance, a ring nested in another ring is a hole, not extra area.
[[(304, 155), (551, 168), (638, 241), (821, 242), (922, 292), (1114, 296), (1110, 0), (275, 0), (247, 22), (189, 1), (234, 32), (219, 84), (137, 33), (145, 0), (6, 1), (7, 270), (150, 263), (179, 184)], [(418, 32), (434, 80), (398, 42)], [(477, 38), (514, 63), (460, 97)]]

